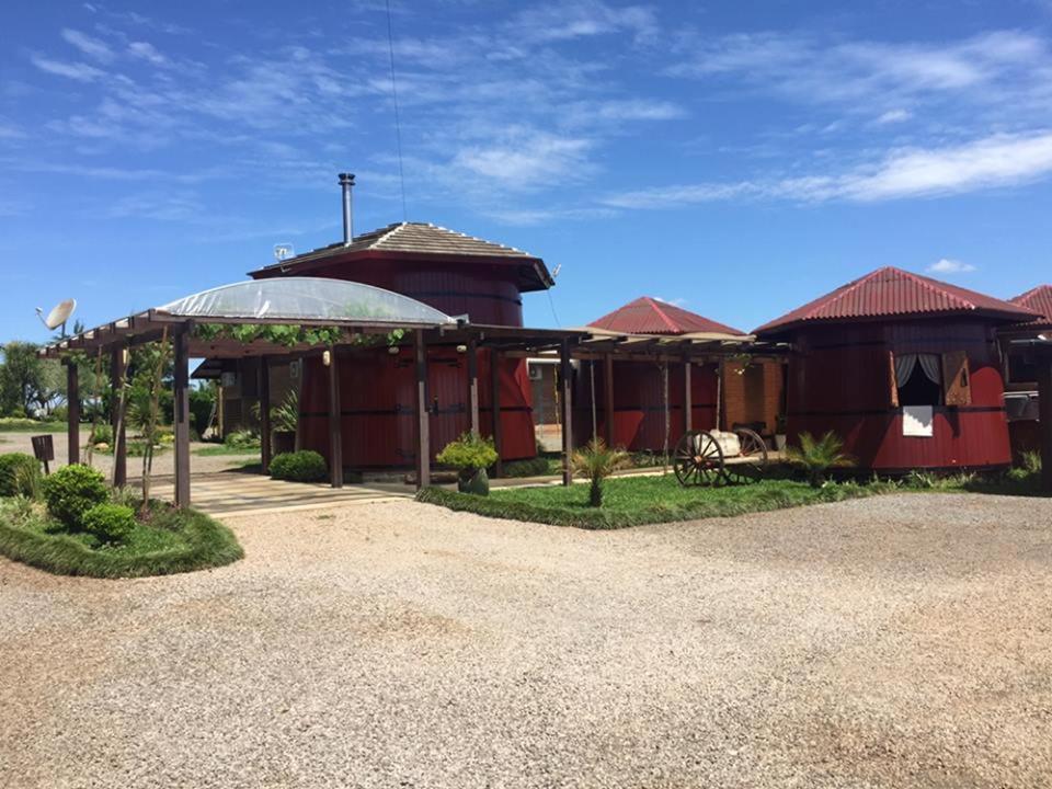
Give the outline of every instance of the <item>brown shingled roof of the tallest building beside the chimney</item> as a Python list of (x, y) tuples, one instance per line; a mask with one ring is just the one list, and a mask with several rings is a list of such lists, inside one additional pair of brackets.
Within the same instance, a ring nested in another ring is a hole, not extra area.
[(350, 244), (334, 243), (249, 272), (249, 276), (305, 274), (310, 268), (344, 259), (405, 258), (410, 260), (454, 259), (464, 262), (496, 262), (522, 266), (523, 290), (542, 290), (554, 282), (545, 262), (504, 244), (449, 230), (430, 222), (396, 222), (355, 236)]

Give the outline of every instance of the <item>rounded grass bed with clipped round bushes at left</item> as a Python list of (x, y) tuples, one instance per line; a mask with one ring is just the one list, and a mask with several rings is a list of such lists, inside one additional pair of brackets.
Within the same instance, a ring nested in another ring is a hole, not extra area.
[(121, 545), (101, 544), (84, 533), (68, 533), (47, 516), (43, 504), (0, 499), (0, 553), (60, 575), (135, 578), (220, 567), (244, 556), (226, 526), (203, 513), (156, 503)]

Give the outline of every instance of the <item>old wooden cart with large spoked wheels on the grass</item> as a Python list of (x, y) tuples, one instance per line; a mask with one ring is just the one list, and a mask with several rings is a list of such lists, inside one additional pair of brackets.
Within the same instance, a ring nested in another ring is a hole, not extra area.
[(767, 444), (755, 431), (688, 431), (673, 453), (679, 484), (745, 484), (767, 471)]

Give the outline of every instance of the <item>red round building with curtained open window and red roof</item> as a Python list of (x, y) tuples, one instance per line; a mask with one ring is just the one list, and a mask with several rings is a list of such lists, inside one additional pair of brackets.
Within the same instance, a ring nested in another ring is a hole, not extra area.
[(792, 344), (789, 441), (834, 431), (859, 468), (1010, 464), (998, 327), (1033, 319), (1008, 301), (880, 268), (756, 330)]

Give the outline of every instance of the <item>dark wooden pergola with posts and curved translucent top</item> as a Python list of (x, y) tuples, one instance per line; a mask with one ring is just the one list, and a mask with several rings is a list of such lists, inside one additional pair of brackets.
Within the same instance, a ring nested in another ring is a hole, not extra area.
[[(298, 342), (284, 344), (264, 340), (238, 340), (231, 332), (202, 331), (205, 327), (224, 325), (321, 327), (341, 331), (341, 340), (332, 343)], [(341, 435), (341, 396), (338, 375), (340, 352), (369, 335), (390, 335), (395, 330), (410, 333), (416, 379), (416, 488), (431, 483), (431, 441), (427, 412), (427, 346), (456, 344), (464, 346), (468, 366), (468, 402), (470, 427), (481, 431), (479, 414), (478, 350), (493, 354), (493, 442), (501, 451), (500, 386), (496, 381), (502, 355), (527, 357), (558, 356), (560, 367), (560, 411), (562, 419), (563, 484), (570, 484), (570, 456), (573, 453), (571, 364), (573, 359), (602, 359), (607, 376), (607, 408), (614, 386), (614, 365), (618, 359), (658, 361), (685, 365), (687, 403), (690, 398), (690, 366), (695, 363), (725, 359), (746, 353), (778, 356), (786, 346), (756, 343), (754, 338), (736, 335), (639, 336), (582, 329), (524, 329), (505, 325), (472, 324), (467, 317), (455, 318), (415, 299), (361, 283), (321, 277), (281, 277), (253, 279), (226, 285), (113, 321), (48, 345), (42, 354), (66, 357), (83, 351), (107, 354), (114, 389), (124, 380), (128, 348), (170, 339), (174, 351), (174, 454), (175, 504), (188, 506), (190, 490), (190, 368), (191, 357), (247, 358), (261, 357), (260, 416), (261, 432), (270, 434), (270, 363), (288, 357), (323, 355), (329, 368), (329, 441), (330, 473), (334, 488), (343, 485), (343, 448)], [(399, 344), (407, 341), (400, 340)], [(68, 458), (80, 459), (79, 380), (76, 364), (67, 364), (69, 391)], [(127, 439), (124, 414), (115, 400), (114, 473), (116, 485), (127, 483)], [(687, 410), (689, 430), (689, 408)], [(611, 420), (608, 420), (611, 423)], [(607, 436), (610, 439), (610, 436)], [(264, 471), (270, 466), (271, 446), (262, 442)], [(498, 476), (501, 473), (500, 461)]]

